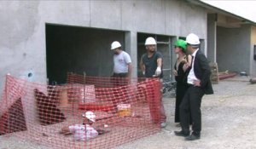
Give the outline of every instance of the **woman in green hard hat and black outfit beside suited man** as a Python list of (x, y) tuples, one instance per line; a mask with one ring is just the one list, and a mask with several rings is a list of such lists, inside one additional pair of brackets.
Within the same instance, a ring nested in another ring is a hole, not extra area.
[(185, 92), (188, 89), (187, 74), (192, 61), (192, 56), (190, 54), (186, 54), (186, 49), (187, 43), (182, 39), (178, 39), (175, 43), (174, 49), (175, 53), (177, 54), (177, 60), (173, 70), (173, 74), (177, 82), (174, 118), (174, 122), (177, 123), (177, 127), (180, 127), (179, 105), (183, 100), (183, 95), (185, 95)]

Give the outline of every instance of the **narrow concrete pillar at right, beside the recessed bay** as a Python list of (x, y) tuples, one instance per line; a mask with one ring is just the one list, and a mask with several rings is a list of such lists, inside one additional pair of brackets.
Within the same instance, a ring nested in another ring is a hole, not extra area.
[(217, 14), (207, 14), (207, 59), (216, 62)]

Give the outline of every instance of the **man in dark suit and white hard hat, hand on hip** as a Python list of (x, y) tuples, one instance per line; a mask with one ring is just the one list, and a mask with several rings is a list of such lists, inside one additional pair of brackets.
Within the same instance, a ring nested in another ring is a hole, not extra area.
[[(199, 50), (199, 37), (190, 33), (186, 37), (187, 50), (192, 55), (188, 75), (189, 89), (179, 106), (182, 130), (174, 131), (175, 135), (184, 136), (185, 140), (198, 140), (201, 135), (201, 99), (203, 95), (213, 94), (210, 81), (211, 69), (205, 54)], [(189, 131), (189, 113), (192, 117), (192, 133)]]

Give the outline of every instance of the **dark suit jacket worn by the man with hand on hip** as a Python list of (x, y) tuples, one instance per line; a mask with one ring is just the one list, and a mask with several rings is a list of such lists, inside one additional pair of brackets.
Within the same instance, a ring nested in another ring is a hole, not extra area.
[(201, 80), (201, 88), (204, 90), (205, 94), (212, 95), (213, 89), (210, 81), (211, 69), (205, 54), (201, 53), (200, 50), (195, 54), (194, 72), (195, 77)]

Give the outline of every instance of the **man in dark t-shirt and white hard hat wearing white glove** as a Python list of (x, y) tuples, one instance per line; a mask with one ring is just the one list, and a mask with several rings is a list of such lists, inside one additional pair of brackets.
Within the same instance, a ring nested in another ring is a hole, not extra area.
[[(159, 77), (160, 79), (163, 77), (162, 73), (162, 54), (159, 51), (156, 51), (156, 41), (154, 37), (148, 37), (145, 41), (145, 47), (147, 49), (147, 53), (143, 54), (140, 67), (145, 77)], [(160, 99), (160, 122), (161, 127), (166, 127), (166, 113)]]

